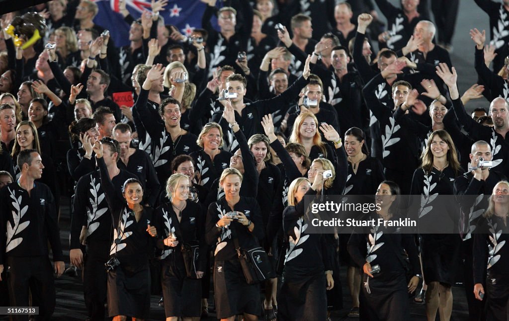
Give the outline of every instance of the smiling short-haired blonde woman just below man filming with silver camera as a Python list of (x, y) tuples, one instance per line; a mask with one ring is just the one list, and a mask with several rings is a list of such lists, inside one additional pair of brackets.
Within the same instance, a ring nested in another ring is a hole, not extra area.
[(196, 164), (198, 183), (210, 189), (214, 180), (229, 167), (232, 153), (221, 149), (223, 133), (217, 123), (207, 123), (196, 140), (202, 150), (190, 154)]

